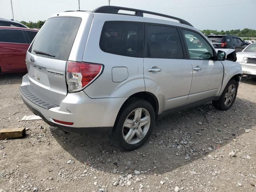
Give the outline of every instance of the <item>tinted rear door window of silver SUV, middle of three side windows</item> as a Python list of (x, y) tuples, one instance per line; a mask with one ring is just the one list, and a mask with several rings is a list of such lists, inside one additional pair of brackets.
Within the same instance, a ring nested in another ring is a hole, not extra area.
[(147, 57), (184, 58), (177, 28), (147, 25)]

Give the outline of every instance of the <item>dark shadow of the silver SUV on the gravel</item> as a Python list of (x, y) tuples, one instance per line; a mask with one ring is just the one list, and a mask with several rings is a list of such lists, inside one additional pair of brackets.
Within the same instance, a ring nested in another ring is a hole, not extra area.
[[(240, 106), (246, 110), (242, 111)], [(130, 152), (114, 147), (106, 135), (73, 135), (65, 134), (56, 127), (50, 129), (57, 142), (74, 159), (97, 170), (112, 172), (117, 169), (124, 174), (139, 170), (146, 171), (146, 174), (160, 174), (205, 158), (211, 150), (218, 150), (244, 134), (244, 128), (256, 124), (255, 120), (252, 121), (255, 111), (254, 103), (237, 98), (227, 111), (216, 110), (211, 103), (207, 103), (178, 112), (158, 120), (148, 142)], [(242, 124), (243, 127), (239, 126)], [(180, 144), (182, 140), (187, 143)], [(187, 160), (186, 154), (189, 154)]]

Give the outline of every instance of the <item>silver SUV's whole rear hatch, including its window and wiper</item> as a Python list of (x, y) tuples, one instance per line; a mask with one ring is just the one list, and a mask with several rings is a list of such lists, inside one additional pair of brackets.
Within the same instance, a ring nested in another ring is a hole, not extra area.
[(60, 106), (67, 94), (66, 62), (82, 18), (61, 16), (47, 20), (26, 55), (31, 90)]

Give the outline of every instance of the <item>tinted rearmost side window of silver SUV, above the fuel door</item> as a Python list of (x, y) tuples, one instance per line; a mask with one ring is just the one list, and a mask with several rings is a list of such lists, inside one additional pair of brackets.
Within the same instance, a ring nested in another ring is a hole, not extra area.
[(107, 21), (102, 28), (100, 49), (116, 55), (143, 57), (143, 42), (143, 23)]

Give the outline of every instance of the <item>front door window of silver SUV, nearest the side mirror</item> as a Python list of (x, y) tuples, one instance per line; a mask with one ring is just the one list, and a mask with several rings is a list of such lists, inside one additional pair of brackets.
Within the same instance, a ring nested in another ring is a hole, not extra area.
[[(188, 30), (182, 30), (182, 33), (188, 46), (190, 59), (214, 59), (212, 47), (200, 34)], [(196, 38), (196, 41), (191, 42), (189, 38)]]

